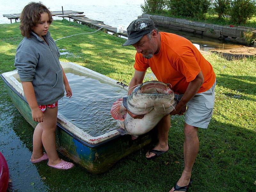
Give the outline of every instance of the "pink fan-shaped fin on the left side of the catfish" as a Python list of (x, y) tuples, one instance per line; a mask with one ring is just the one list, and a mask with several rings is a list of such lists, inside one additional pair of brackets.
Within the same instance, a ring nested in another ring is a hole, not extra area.
[(110, 113), (114, 119), (124, 121), (127, 115), (127, 109), (123, 105), (123, 98), (119, 98), (113, 103)]

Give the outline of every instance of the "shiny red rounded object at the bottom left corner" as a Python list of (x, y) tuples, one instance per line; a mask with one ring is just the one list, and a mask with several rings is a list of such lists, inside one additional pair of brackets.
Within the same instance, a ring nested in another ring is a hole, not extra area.
[(9, 169), (7, 162), (0, 152), (0, 191), (5, 192), (9, 183)]

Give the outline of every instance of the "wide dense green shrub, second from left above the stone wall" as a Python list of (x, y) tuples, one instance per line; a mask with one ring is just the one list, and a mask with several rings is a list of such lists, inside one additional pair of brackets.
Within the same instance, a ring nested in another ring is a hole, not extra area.
[(168, 0), (167, 8), (173, 15), (204, 18), (210, 4), (210, 0)]

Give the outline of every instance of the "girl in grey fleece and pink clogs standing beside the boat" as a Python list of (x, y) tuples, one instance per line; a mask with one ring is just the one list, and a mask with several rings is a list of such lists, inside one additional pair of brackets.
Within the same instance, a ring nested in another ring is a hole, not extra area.
[(52, 14), (43, 4), (32, 2), (24, 7), (20, 15), (24, 38), (17, 48), (14, 66), (18, 69), (32, 118), (38, 122), (30, 161), (38, 163), (49, 159), (50, 167), (69, 169), (74, 164), (59, 158), (55, 130), (58, 100), (64, 96), (64, 87), (66, 97), (70, 98), (72, 91), (60, 65), (60, 52), (48, 31), (51, 23)]

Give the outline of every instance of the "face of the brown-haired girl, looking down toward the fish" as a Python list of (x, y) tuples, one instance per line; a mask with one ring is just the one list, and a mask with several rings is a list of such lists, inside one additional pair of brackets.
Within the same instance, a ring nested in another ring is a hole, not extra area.
[(41, 20), (33, 27), (33, 31), (43, 39), (43, 35), (46, 35), (49, 28), (49, 16), (48, 13), (41, 13)]

